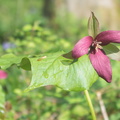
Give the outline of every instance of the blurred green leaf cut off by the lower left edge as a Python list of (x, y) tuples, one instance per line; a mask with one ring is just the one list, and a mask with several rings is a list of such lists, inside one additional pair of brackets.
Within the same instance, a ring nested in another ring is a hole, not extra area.
[(3, 93), (2, 87), (0, 86), (0, 120), (4, 120), (5, 118), (4, 103), (5, 103), (5, 94)]

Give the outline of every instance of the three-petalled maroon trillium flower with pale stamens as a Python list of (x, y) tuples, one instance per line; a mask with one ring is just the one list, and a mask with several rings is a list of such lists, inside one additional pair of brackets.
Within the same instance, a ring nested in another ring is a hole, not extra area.
[(107, 82), (112, 80), (112, 68), (108, 56), (102, 49), (102, 46), (109, 43), (120, 43), (120, 31), (103, 31), (95, 39), (86, 36), (79, 40), (73, 50), (72, 57), (79, 58), (89, 54), (90, 61), (98, 75)]

